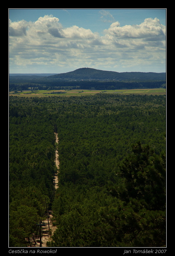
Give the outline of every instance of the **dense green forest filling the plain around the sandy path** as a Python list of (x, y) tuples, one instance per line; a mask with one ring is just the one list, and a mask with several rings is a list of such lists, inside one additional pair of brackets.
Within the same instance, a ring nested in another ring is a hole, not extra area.
[(166, 246), (166, 96), (9, 96), (9, 246), (46, 203), (49, 247)]

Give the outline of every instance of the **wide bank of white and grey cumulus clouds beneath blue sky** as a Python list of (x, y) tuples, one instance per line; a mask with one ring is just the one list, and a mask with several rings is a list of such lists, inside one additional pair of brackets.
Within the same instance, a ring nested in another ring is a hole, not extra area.
[(155, 60), (155, 65), (160, 59), (165, 61), (166, 27), (159, 19), (121, 27), (109, 12), (102, 10), (101, 15), (103, 20), (111, 20), (103, 36), (76, 25), (63, 27), (53, 15), (35, 22), (9, 21), (10, 67), (104, 66), (106, 70), (108, 66), (112, 70), (145, 65), (148, 60), (148, 65)]

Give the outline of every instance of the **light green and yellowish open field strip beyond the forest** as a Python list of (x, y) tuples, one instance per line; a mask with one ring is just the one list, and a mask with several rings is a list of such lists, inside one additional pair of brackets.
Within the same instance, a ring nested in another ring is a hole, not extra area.
[[(54, 92), (54, 94), (53, 94)], [(56, 93), (62, 92), (62, 93)], [(126, 89), (126, 90), (38, 90), (38, 91), (22, 91), (18, 94), (9, 92), (9, 95), (14, 96), (25, 96), (25, 97), (48, 97), (48, 96), (81, 96), (81, 95), (94, 95), (96, 93), (118, 93), (118, 94), (152, 94), (152, 95), (163, 95), (166, 94), (166, 89)]]

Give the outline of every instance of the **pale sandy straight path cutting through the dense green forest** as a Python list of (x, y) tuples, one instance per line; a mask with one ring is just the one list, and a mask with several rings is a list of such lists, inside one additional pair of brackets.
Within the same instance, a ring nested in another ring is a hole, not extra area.
[[(60, 162), (58, 160), (58, 134), (55, 133), (55, 136), (56, 136), (56, 151), (55, 151), (55, 165), (57, 167), (57, 173), (59, 171), (59, 165), (60, 165)], [(55, 189), (58, 188), (58, 176), (57, 176), (57, 173), (55, 173), (55, 176), (54, 176), (54, 186), (55, 186)], [(56, 230), (56, 226), (53, 226), (53, 223), (52, 223), (52, 218), (53, 218), (53, 215), (52, 215), (52, 211), (48, 211), (49, 212), (49, 223), (48, 223), (48, 220), (44, 221), (46, 226), (42, 226), (42, 247), (47, 247), (46, 243), (48, 241), (50, 241), (52, 239), (52, 237), (49, 235), (49, 228), (50, 230), (52, 231), (52, 234), (54, 233), (54, 231)], [(39, 239), (39, 237), (38, 237)], [(31, 241), (32, 243), (32, 247), (40, 247), (40, 242), (37, 240), (37, 237), (34, 237), (34, 240), (36, 242), (36, 244), (34, 244), (34, 241)]]

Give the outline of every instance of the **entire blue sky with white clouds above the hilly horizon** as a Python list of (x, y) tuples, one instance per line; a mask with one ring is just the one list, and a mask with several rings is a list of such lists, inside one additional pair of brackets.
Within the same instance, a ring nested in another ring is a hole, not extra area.
[(9, 9), (9, 73), (166, 72), (166, 9)]

